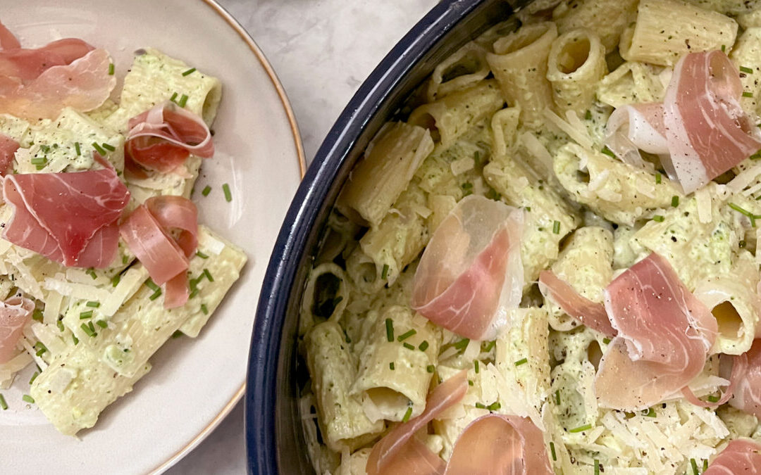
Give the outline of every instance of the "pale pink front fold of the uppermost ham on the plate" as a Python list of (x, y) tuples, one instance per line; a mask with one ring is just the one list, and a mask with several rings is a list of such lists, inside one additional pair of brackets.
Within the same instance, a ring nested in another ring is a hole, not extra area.
[(37, 121), (56, 119), (65, 107), (80, 112), (96, 109), (116, 86), (116, 76), (108, 74), (111, 63), (105, 49), (94, 49), (69, 65), (47, 68), (26, 83), (0, 76), (0, 110)]

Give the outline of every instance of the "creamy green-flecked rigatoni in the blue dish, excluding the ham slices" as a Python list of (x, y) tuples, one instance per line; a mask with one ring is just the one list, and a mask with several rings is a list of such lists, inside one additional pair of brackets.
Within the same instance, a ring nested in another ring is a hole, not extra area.
[[(381, 128), (339, 195), (299, 326), (310, 373), (301, 416), (317, 473), (365, 473), (374, 445), (462, 370), (464, 397), (417, 436), (442, 461), (489, 413), (539, 427), (556, 473), (698, 473), (731, 440), (761, 441), (753, 411), (736, 404), (701, 407), (677, 392), (644, 409), (606, 407), (595, 378), (612, 336), (537, 286), (551, 271), (597, 305), (616, 277), (661, 256), (716, 321), (688, 389), (719, 401), (720, 360), (747, 353), (759, 329), (758, 157), (686, 192), (657, 154), (622, 160), (606, 125), (614, 109), (663, 103), (685, 55), (718, 51), (740, 71), (739, 103), (755, 127), (761, 10), (572, 0), (534, 2), (517, 17), (520, 27), (505, 19), (438, 65), (416, 94), (425, 103)], [(470, 195), (523, 216), (521, 304), (488, 340), (411, 303), (431, 236)]]

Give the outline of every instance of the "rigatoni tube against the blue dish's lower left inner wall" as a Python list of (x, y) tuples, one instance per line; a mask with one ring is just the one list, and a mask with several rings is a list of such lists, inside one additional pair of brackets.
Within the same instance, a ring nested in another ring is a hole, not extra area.
[(333, 451), (361, 447), (384, 429), (383, 421), (371, 422), (359, 399), (349, 394), (356, 365), (344, 338), (336, 322), (324, 321), (312, 328), (304, 339), (320, 430)]

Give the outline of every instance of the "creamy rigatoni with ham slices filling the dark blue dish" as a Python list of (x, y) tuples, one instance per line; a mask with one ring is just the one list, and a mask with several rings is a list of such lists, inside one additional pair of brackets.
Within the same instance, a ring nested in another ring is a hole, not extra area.
[(502, 20), (327, 221), (298, 328), (315, 471), (755, 473), (761, 5)]

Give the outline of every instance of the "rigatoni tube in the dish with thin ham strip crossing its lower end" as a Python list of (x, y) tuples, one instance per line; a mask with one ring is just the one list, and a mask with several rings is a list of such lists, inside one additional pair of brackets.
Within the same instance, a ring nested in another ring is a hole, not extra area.
[[(593, 302), (603, 301), (603, 289), (613, 279), (613, 233), (599, 226), (575, 230), (552, 271), (582, 296)], [(548, 302), (549, 325), (557, 331), (568, 331), (578, 322), (565, 315), (554, 302)]]

